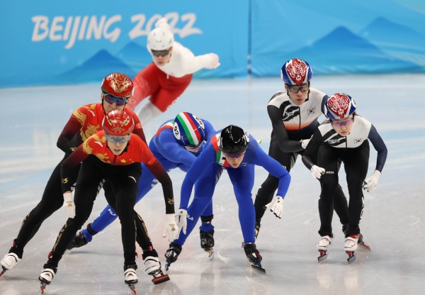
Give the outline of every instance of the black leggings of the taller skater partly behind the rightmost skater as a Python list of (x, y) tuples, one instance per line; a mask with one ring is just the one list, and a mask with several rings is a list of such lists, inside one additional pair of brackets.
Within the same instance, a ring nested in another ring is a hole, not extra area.
[[(298, 155), (302, 155), (302, 152), (304, 152), (304, 150), (300, 152), (282, 152), (282, 150), (280, 150), (280, 147), (278, 146), (276, 136), (274, 135), (274, 133), (271, 134), (271, 142), (270, 147), (268, 149), (268, 155), (273, 157), (273, 159), (277, 160), (281, 165), (283, 165), (283, 167), (285, 167), (288, 172), (290, 172), (290, 169), (294, 167)], [(315, 155), (315, 157), (313, 158), (313, 162), (317, 162), (317, 155)], [(261, 218), (263, 218), (264, 212), (266, 212), (266, 209), (264, 209), (263, 207), (272, 201), (273, 195), (275, 194), (276, 189), (278, 189), (278, 186), (279, 179), (271, 174), (268, 174), (266, 181), (261, 184), (261, 187), (259, 188), (259, 191), (257, 192), (255, 197), (254, 206), (256, 221), (260, 222)], [(332, 208), (335, 209), (336, 214), (338, 214), (339, 221), (341, 221), (341, 224), (347, 224), (349, 220), (348, 204), (346, 196), (344, 195), (344, 192), (342, 191), (341, 186), (339, 184), (337, 184), (336, 187), (336, 194), (332, 206)]]

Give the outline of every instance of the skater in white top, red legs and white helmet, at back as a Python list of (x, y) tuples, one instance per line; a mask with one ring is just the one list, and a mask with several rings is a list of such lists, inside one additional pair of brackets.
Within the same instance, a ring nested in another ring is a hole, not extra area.
[(191, 84), (194, 72), (220, 66), (218, 55), (208, 53), (195, 56), (188, 48), (174, 41), (174, 34), (161, 18), (147, 36), (147, 51), (153, 62), (135, 77), (135, 93), (128, 102), (132, 111), (140, 101), (149, 101), (137, 111), (142, 125), (166, 111)]

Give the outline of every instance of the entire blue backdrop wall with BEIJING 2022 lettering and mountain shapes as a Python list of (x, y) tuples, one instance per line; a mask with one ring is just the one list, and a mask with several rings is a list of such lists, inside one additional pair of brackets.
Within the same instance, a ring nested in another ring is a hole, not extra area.
[[(425, 72), (425, 1), (4, 1), (0, 87), (100, 82), (152, 62), (162, 16), (196, 55), (221, 66), (197, 78), (278, 76), (302, 58), (317, 74)], [(249, 58), (247, 58), (249, 57)], [(251, 65), (249, 65), (249, 62)]]

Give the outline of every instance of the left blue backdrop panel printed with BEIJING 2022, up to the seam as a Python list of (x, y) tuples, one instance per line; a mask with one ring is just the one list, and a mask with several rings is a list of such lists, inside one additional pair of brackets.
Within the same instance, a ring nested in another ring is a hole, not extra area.
[(147, 34), (162, 16), (195, 55), (221, 66), (196, 77), (246, 76), (249, 5), (234, 1), (4, 1), (0, 87), (101, 82), (152, 62)]

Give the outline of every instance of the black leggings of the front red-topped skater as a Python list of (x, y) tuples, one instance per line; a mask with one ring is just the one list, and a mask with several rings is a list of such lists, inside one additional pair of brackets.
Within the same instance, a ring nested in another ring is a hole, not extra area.
[(126, 166), (100, 167), (89, 160), (84, 160), (77, 179), (75, 189), (75, 217), (68, 218), (53, 246), (47, 265), (57, 267), (67, 246), (74, 238), (77, 230), (89, 218), (98, 184), (105, 179), (108, 193), (106, 199), (118, 214), (121, 222), (121, 238), (123, 240), (124, 265), (135, 264), (136, 226), (134, 206), (137, 198), (137, 184), (142, 174), (140, 163)]

